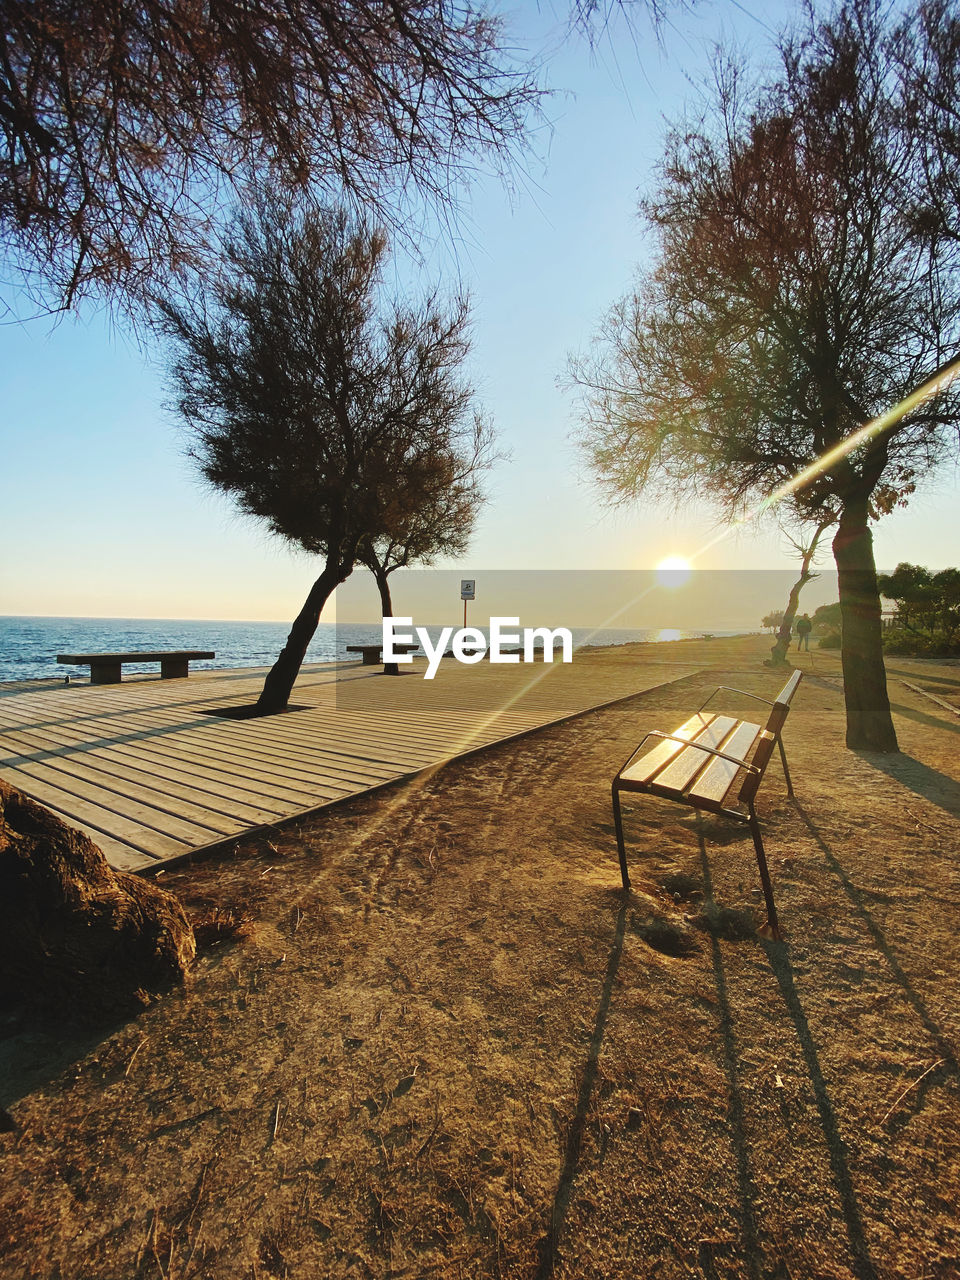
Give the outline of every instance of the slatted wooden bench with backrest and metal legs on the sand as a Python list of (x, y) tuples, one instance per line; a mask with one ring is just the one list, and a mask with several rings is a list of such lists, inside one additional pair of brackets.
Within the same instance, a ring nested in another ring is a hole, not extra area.
[[(787, 795), (794, 795), (781, 731), (801, 678), (803, 672), (795, 671), (773, 701), (756, 694), (748, 694), (742, 689), (721, 685), (680, 728), (672, 733), (655, 730), (644, 737), (613, 780), (613, 823), (625, 890), (630, 888), (630, 874), (620, 810), (621, 791), (640, 791), (662, 796), (664, 800), (676, 800), (692, 809), (722, 814), (750, 828), (767, 904), (767, 923), (759, 932), (762, 937), (780, 938), (777, 909), (754, 801), (774, 745), (780, 748)], [(750, 721), (735, 719), (732, 716), (707, 712), (707, 704), (721, 691), (765, 703), (771, 708), (767, 723), (754, 724)], [(652, 737), (659, 741), (641, 755), (644, 745)]]

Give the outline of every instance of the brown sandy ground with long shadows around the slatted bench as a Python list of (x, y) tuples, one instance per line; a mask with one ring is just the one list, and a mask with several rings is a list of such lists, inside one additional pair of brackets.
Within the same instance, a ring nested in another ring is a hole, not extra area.
[(640, 736), (781, 682), (669, 649), (713, 669), (168, 872), (224, 925), (189, 987), (0, 1041), (0, 1275), (960, 1275), (960, 716), (902, 685), (960, 664), (890, 660), (869, 756), (799, 657), (777, 945), (746, 831), (680, 806), (628, 805), (620, 892)]

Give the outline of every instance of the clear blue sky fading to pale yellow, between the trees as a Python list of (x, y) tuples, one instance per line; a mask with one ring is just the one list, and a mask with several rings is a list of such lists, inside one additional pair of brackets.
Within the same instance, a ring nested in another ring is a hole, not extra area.
[[(595, 51), (561, 38), (559, 4), (504, 12), (557, 91), (540, 156), (512, 193), (477, 182), (456, 241), (425, 242), (417, 268), (396, 266), (398, 287), (468, 289), (471, 374), (509, 453), (468, 554), (444, 567), (646, 570), (669, 556), (707, 570), (791, 567), (772, 524), (717, 540), (708, 509), (605, 511), (557, 378), (649, 260), (637, 198), (713, 45), (733, 40), (762, 61), (792, 5), (704, 3), (659, 42), (614, 22)], [(202, 488), (164, 401), (157, 353), (104, 314), (0, 324), (0, 614), (283, 621), (298, 611), (319, 564)], [(959, 499), (950, 467), (876, 526), (878, 564), (960, 563)]]

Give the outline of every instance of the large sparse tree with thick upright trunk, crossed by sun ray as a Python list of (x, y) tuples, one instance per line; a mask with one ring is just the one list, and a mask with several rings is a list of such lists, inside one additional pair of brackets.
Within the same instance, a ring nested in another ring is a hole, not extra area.
[(897, 744), (870, 521), (909, 499), (957, 420), (957, 246), (916, 216), (922, 47), (915, 15), (891, 29), (847, 0), (781, 42), (765, 87), (722, 61), (644, 205), (655, 265), (572, 369), (614, 502), (657, 483), (731, 517), (837, 516), (846, 740), (879, 751)]

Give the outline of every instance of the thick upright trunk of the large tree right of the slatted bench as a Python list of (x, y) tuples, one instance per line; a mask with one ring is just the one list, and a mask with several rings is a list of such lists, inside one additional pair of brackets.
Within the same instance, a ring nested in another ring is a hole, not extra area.
[(844, 506), (833, 539), (840, 586), (846, 703), (846, 745), (856, 751), (899, 751), (883, 668), (881, 602), (867, 502)]

